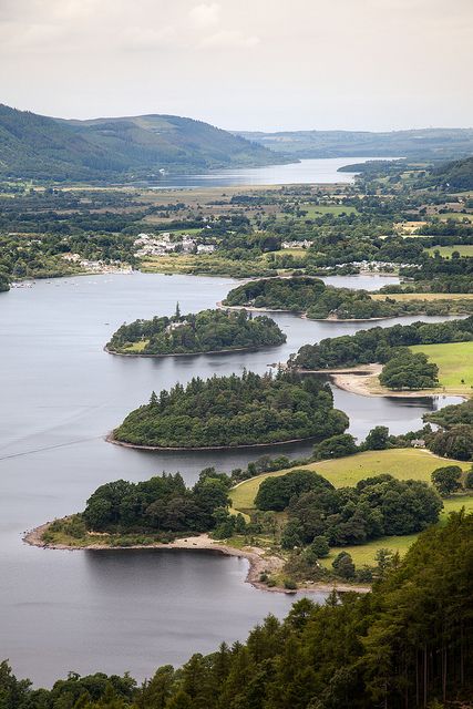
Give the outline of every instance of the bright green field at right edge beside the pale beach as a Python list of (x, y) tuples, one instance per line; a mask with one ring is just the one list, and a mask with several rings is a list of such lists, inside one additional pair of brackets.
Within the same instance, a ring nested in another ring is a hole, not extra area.
[(425, 352), (439, 366), (441, 387), (460, 393), (473, 393), (473, 342), (417, 345), (413, 352)]

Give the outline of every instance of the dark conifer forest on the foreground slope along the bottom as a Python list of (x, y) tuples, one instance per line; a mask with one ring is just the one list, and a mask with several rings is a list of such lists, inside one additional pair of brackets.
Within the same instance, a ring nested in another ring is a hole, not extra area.
[(370, 594), (302, 598), (244, 644), (164, 666), (142, 687), (92, 675), (32, 689), (0, 666), (11, 709), (414, 709), (473, 691), (473, 515), (430, 527)]

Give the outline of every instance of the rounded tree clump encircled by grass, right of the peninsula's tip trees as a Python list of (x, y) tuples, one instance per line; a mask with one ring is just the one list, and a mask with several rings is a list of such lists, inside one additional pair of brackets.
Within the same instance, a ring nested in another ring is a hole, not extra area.
[(443, 506), (434, 490), (420, 481), (382, 474), (336, 490), (305, 470), (264, 480), (255, 504), (259, 510), (286, 510), (288, 523), (281, 536), (286, 548), (310, 544), (318, 536), (340, 546), (413, 534), (438, 522)]

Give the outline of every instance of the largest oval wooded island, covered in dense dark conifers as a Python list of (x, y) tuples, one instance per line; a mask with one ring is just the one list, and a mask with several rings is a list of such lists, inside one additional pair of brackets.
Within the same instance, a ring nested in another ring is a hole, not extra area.
[(216, 448), (322, 440), (348, 428), (330, 387), (291, 372), (193, 379), (153, 394), (115, 429), (116, 441), (157, 448)]

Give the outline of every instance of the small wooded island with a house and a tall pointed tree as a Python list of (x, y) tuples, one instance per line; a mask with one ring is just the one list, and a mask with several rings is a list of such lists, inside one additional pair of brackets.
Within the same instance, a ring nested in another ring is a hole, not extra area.
[(267, 316), (253, 317), (245, 310), (219, 309), (181, 315), (177, 305), (172, 317), (122, 325), (105, 349), (128, 357), (166, 357), (255, 350), (284, 342), (286, 335)]

